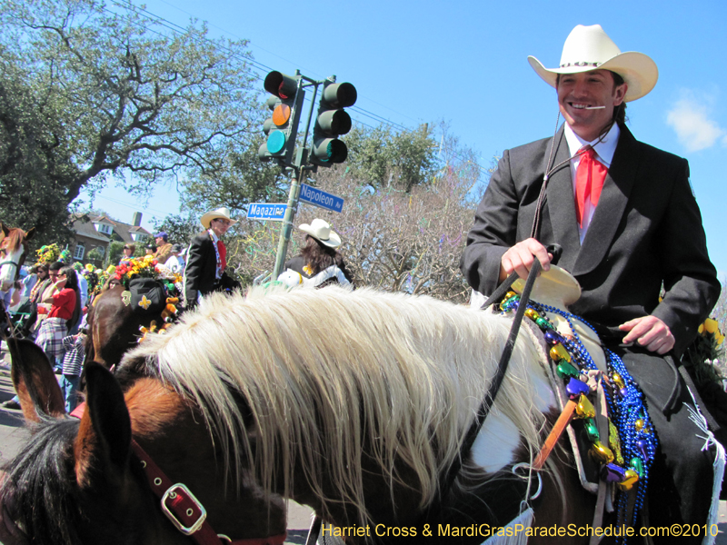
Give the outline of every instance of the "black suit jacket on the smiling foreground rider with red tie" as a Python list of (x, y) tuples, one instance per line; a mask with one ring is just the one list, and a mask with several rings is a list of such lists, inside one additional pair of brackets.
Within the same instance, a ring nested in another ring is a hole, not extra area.
[[(530, 236), (552, 142), (547, 138), (506, 151), (493, 173), (461, 263), (475, 290), (492, 293), (503, 253)], [(638, 142), (622, 125), (582, 246), (563, 127), (554, 142), (551, 167), (560, 166), (546, 186), (538, 240), (563, 246), (558, 265), (581, 283), (582, 297), (571, 311), (592, 322), (606, 340), (622, 339), (619, 324), (653, 314), (670, 327), (674, 350), (681, 353), (721, 289), (689, 164)], [(662, 282), (666, 295), (659, 302)]]

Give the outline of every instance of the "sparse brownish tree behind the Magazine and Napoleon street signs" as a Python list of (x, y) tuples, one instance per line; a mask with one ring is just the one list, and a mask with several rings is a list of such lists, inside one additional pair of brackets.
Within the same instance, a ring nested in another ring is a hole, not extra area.
[[(489, 173), (471, 150), (446, 133), (446, 126), (443, 131), (436, 170), (408, 191), (406, 183), (372, 183), (372, 170), (344, 165), (320, 169), (307, 181), (344, 197), (344, 210), (333, 213), (301, 204), (294, 223), (310, 223), (315, 217), (331, 223), (342, 236), (340, 250), (357, 286), (426, 293), (456, 302), (468, 299), (459, 260)], [(374, 144), (372, 137), (369, 149)], [(380, 172), (394, 172), (393, 163), (379, 164)], [(281, 224), (241, 222), (235, 227), (228, 237), (228, 256), (234, 254), (228, 263), (247, 278), (271, 272)], [(294, 231), (288, 258), (302, 241), (303, 235)]]

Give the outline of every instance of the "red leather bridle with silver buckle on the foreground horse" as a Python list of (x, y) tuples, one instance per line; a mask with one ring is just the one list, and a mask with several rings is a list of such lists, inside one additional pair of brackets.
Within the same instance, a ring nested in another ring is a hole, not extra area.
[[(81, 403), (71, 412), (71, 416), (80, 419), (84, 411), (85, 403)], [(206, 520), (207, 511), (194, 494), (183, 483), (174, 484), (133, 439), (131, 447), (142, 462), (154, 495), (161, 500), (164, 515), (172, 521), (174, 528), (189, 536), (198, 545), (283, 545), (287, 532), (267, 538), (244, 540), (233, 540), (224, 534), (217, 534)]]

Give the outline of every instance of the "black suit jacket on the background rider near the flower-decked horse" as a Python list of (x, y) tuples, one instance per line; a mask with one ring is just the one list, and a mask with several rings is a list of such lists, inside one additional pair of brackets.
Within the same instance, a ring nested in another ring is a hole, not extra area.
[(184, 269), (184, 306), (188, 309), (197, 304), (197, 294), (234, 289), (240, 286), (226, 273), (217, 280), (217, 253), (210, 234), (204, 231), (197, 234), (187, 251), (187, 266)]

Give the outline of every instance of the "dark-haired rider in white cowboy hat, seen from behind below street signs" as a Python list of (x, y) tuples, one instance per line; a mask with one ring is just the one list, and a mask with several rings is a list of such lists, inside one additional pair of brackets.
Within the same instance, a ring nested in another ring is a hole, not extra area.
[(351, 285), (354, 277), (346, 269), (344, 256), (336, 250), (341, 237), (331, 225), (315, 218), (310, 225), (303, 223), (298, 229), (305, 233), (304, 246), (301, 253), (285, 263), (286, 271), (278, 280), (316, 288), (336, 282)]

